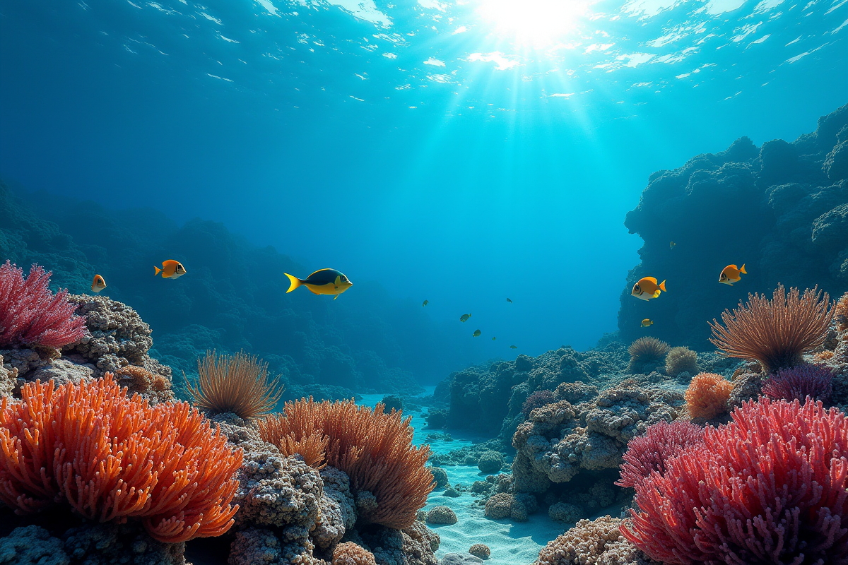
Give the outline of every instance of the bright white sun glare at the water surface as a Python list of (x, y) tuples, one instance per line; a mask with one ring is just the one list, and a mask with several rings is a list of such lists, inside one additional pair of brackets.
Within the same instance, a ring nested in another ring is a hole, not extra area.
[(588, 0), (479, 0), (477, 13), (499, 36), (545, 47), (568, 35), (588, 9)]

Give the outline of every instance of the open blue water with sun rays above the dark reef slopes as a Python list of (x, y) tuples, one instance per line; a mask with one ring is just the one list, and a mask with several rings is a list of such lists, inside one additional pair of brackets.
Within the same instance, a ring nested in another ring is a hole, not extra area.
[(0, 176), (472, 313), (469, 362), (584, 348), (648, 175), (811, 130), (846, 37), (845, 0), (3, 0)]

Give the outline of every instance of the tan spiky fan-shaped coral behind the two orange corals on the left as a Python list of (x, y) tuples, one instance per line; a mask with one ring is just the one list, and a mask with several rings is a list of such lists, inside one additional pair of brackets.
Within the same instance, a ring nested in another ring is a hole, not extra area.
[(186, 387), (201, 410), (232, 412), (247, 420), (271, 413), (285, 391), (279, 376), (268, 377), (268, 363), (245, 352), (232, 356), (206, 352), (198, 359), (197, 382), (186, 379)]

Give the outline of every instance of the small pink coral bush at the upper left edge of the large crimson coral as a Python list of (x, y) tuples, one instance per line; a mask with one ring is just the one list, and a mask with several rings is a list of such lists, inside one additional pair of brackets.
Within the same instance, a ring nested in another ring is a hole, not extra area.
[(652, 471), (662, 474), (669, 457), (703, 440), (704, 429), (691, 422), (669, 424), (661, 420), (648, 426), (643, 435), (628, 442), (628, 451), (622, 457), (621, 478), (616, 481), (616, 485), (633, 488)]

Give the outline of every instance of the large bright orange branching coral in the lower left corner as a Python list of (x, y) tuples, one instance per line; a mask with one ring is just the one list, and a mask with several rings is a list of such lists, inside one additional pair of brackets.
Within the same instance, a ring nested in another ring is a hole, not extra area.
[(156, 540), (221, 535), (241, 450), (186, 402), (151, 407), (107, 373), (92, 383), (28, 383), (0, 404), (0, 501), (16, 512), (66, 501), (100, 522), (142, 518)]

